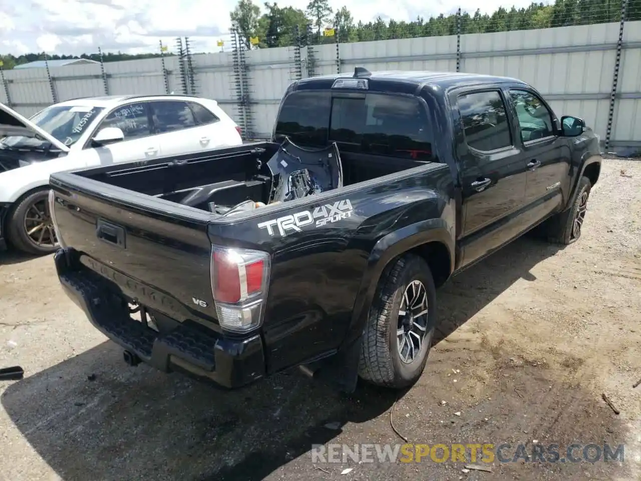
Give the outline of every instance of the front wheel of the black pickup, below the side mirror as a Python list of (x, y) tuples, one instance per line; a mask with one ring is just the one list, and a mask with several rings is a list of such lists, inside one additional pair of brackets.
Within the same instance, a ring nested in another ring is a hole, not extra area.
[(567, 246), (580, 239), (591, 189), (590, 179), (581, 177), (572, 207), (554, 215), (545, 222), (547, 241)]

